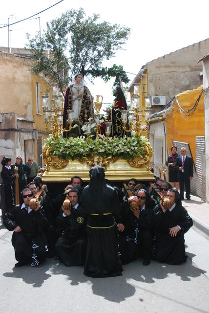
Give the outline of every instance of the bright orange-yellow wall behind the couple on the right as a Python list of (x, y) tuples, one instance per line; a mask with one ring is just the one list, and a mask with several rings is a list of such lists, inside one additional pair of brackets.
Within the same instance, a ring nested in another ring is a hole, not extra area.
[[(179, 94), (178, 102), (185, 111), (190, 110), (198, 99), (202, 86)], [(204, 122), (204, 95), (202, 94), (195, 112), (190, 117), (183, 117), (177, 103), (174, 103), (171, 112), (166, 115), (167, 154), (170, 154), (172, 141), (189, 143), (192, 156), (196, 161), (196, 136), (205, 135)], [(180, 154), (179, 151), (177, 153)]]

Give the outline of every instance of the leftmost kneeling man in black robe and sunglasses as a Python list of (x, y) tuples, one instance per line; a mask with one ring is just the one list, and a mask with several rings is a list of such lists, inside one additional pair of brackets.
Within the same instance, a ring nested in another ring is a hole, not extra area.
[(16, 205), (3, 217), (4, 226), (13, 232), (12, 245), (15, 249), (15, 258), (19, 268), (26, 264), (38, 265), (44, 260), (47, 249), (47, 240), (44, 232), (48, 227), (48, 221), (40, 212), (39, 201), (34, 209), (30, 208), (29, 202), (34, 198), (33, 191), (25, 188), (22, 191), (23, 204)]

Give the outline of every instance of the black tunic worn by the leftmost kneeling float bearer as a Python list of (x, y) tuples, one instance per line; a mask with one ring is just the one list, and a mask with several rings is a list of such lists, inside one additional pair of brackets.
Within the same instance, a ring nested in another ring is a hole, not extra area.
[[(47, 240), (44, 231), (49, 227), (48, 221), (42, 213), (32, 210), (30, 213), (21, 205), (17, 205), (3, 217), (3, 224), (8, 230), (17, 226), (21, 231), (12, 235), (12, 245), (15, 249), (15, 258), (19, 262), (31, 262), (33, 253), (44, 257), (47, 249)], [(36, 246), (35, 251), (33, 246)]]

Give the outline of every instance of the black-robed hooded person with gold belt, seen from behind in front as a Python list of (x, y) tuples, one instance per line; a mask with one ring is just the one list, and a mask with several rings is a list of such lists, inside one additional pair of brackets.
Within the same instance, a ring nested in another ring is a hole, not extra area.
[(87, 215), (88, 244), (84, 275), (111, 277), (122, 275), (117, 227), (113, 214), (120, 212), (120, 202), (113, 187), (104, 180), (104, 168), (89, 171), (89, 185), (84, 188), (82, 205)]

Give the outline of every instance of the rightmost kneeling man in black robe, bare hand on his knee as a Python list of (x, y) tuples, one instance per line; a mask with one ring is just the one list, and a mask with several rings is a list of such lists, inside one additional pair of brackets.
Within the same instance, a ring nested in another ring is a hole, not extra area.
[(167, 264), (181, 264), (187, 261), (184, 234), (193, 222), (176, 189), (169, 189), (167, 198), (171, 201), (171, 208), (164, 208), (161, 204), (154, 208), (154, 256)]

